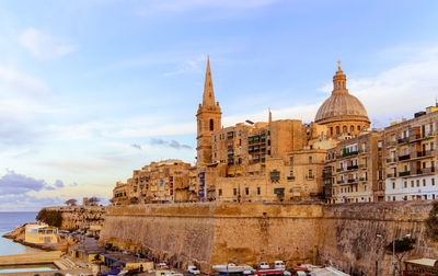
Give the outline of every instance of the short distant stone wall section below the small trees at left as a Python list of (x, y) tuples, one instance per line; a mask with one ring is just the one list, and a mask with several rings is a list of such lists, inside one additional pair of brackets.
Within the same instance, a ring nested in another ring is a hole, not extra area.
[(106, 208), (103, 206), (57, 206), (46, 210), (58, 210), (62, 214), (61, 229), (84, 229), (90, 226), (103, 226)]

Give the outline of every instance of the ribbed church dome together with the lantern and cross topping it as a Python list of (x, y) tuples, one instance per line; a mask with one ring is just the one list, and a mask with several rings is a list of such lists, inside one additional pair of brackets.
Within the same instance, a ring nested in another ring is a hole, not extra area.
[(368, 122), (368, 114), (362, 103), (346, 89), (346, 77), (341, 70), (341, 62), (333, 77), (332, 95), (318, 110), (315, 123), (326, 124), (338, 120)]

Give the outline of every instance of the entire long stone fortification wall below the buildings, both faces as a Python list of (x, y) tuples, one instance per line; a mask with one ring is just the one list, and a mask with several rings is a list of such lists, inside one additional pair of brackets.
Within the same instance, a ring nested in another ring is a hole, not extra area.
[[(227, 260), (333, 264), (354, 275), (391, 272), (384, 245), (417, 239), (415, 256), (438, 254), (424, 220), (430, 202), (374, 204), (206, 203), (107, 207), (100, 243), (142, 251), (178, 267), (208, 272)], [(377, 238), (380, 234), (381, 238)]]

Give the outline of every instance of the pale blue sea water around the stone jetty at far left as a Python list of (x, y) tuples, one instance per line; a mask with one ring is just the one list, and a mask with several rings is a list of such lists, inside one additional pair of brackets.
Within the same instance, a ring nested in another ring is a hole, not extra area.
[(11, 211), (0, 212), (0, 255), (23, 254), (41, 252), (42, 250), (22, 245), (5, 239), (2, 235), (24, 223), (35, 222), (36, 211)]

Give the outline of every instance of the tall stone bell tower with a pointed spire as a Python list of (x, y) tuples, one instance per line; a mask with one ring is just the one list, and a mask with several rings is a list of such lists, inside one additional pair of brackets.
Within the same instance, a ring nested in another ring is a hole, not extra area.
[(204, 84), (203, 103), (196, 113), (197, 120), (197, 164), (211, 163), (211, 136), (212, 131), (221, 128), (221, 115), (219, 102), (215, 102), (212, 89), (210, 60), (207, 58), (207, 71)]

